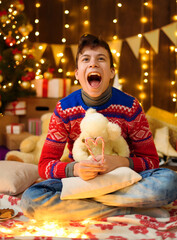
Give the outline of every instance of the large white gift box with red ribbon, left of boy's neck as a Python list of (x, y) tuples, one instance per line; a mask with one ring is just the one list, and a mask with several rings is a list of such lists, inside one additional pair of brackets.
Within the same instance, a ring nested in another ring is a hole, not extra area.
[(63, 98), (71, 93), (69, 78), (35, 79), (33, 83), (37, 97)]

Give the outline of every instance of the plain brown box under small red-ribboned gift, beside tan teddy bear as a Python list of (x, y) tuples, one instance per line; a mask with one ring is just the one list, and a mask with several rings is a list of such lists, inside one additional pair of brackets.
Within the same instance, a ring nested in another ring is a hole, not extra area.
[(4, 134), (5, 146), (9, 150), (17, 150), (20, 148), (20, 143), (27, 137), (31, 136), (29, 132), (22, 132), (20, 134)]

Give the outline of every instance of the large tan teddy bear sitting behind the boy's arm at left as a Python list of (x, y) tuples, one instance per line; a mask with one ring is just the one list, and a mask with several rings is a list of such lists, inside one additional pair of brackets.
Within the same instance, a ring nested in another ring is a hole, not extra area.
[(46, 113), (41, 116), (42, 134), (40, 136), (25, 138), (20, 144), (20, 151), (9, 151), (6, 154), (5, 160), (38, 164), (47, 136), (51, 115), (52, 113)]

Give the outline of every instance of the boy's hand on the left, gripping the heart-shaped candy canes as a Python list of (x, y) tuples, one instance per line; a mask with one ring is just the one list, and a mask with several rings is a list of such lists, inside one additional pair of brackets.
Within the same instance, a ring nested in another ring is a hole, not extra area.
[(74, 176), (80, 177), (85, 181), (95, 178), (99, 173), (105, 171), (106, 169), (101, 162), (96, 162), (93, 159), (83, 160), (74, 165)]

